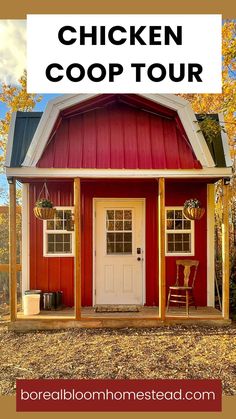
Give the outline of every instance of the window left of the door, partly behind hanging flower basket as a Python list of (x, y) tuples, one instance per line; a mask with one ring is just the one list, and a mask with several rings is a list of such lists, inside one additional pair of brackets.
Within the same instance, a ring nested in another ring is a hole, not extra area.
[(44, 220), (44, 256), (74, 256), (73, 208), (57, 207), (52, 220)]

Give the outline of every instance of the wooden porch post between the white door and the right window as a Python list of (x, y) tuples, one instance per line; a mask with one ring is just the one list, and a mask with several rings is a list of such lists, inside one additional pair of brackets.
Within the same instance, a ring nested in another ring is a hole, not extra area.
[(165, 179), (158, 181), (158, 265), (159, 265), (159, 316), (165, 319), (166, 261), (165, 261)]

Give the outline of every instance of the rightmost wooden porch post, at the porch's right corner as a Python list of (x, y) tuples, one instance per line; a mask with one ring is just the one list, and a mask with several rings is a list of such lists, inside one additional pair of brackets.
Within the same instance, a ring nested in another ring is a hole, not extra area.
[(222, 315), (229, 319), (229, 185), (223, 183)]

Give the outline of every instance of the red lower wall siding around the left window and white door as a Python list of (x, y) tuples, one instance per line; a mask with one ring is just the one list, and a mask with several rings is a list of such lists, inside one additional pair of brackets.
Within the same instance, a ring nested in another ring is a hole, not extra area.
[[(47, 183), (54, 205), (73, 205), (73, 184)], [(112, 186), (112, 188), (111, 188)], [(73, 305), (72, 257), (43, 257), (43, 222), (35, 218), (33, 205), (42, 184), (30, 185), (30, 288), (43, 291), (62, 290), (64, 303)], [(82, 305), (92, 305), (92, 223), (93, 198), (146, 198), (147, 302), (157, 296), (157, 182), (84, 182), (82, 183)]]

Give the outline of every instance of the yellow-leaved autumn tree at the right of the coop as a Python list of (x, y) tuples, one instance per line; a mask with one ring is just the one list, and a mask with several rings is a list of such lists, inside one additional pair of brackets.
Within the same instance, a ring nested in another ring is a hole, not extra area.
[[(212, 139), (214, 134), (224, 130), (229, 139), (231, 157), (234, 169), (236, 169), (236, 23), (227, 20), (223, 24), (222, 29), (222, 94), (185, 94), (181, 95), (191, 102), (195, 113), (205, 115), (205, 122), (200, 124), (200, 129), (207, 134), (207, 129), (212, 131)], [(221, 113), (220, 126), (207, 115), (213, 113)], [(205, 124), (205, 127), (204, 127)], [(205, 131), (206, 129), (206, 131)], [(230, 183), (230, 305), (231, 311), (236, 313), (236, 178), (232, 176)], [(221, 277), (221, 223), (222, 223), (222, 184), (218, 182), (216, 185), (216, 273), (218, 278)]]

